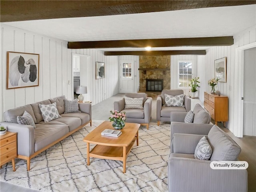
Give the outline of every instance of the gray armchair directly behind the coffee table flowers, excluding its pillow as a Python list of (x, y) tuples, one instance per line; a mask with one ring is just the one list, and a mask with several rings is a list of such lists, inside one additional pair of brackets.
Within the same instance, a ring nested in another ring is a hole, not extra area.
[(125, 101), (122, 98), (114, 102), (114, 110), (125, 112), (126, 122), (139, 123), (148, 129), (152, 116), (152, 98), (147, 97), (146, 93), (126, 93), (125, 96), (130, 98), (144, 98), (143, 109), (125, 109)]

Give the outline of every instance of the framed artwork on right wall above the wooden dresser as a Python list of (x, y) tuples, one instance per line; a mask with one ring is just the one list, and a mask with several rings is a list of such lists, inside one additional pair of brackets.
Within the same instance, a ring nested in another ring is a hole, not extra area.
[(227, 58), (214, 60), (215, 79), (218, 82), (227, 82)]

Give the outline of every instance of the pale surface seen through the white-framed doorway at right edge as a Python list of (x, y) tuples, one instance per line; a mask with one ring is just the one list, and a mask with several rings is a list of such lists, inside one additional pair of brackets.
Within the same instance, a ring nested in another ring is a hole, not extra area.
[(243, 134), (256, 136), (256, 48), (244, 50)]

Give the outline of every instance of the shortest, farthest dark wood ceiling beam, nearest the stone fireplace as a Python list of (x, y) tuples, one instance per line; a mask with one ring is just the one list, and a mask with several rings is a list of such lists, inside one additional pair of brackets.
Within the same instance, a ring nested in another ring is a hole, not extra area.
[(106, 56), (116, 55), (206, 55), (206, 50), (173, 50), (173, 51), (105, 51)]

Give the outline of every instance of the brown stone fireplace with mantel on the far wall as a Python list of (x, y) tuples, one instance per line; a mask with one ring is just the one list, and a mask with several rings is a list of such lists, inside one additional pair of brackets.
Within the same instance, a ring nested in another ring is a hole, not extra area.
[[(159, 94), (162, 89), (170, 89), (170, 55), (164, 56), (140, 56), (140, 90), (145, 92), (148, 96), (152, 94)], [(150, 79), (150, 87), (161, 88), (161, 90), (148, 90), (147, 80)], [(152, 81), (153, 80), (153, 81)], [(158, 86), (156, 86), (156, 82)], [(153, 82), (153, 83), (152, 83)], [(161, 86), (159, 86), (161, 82)], [(153, 97), (153, 96), (152, 96)]]

